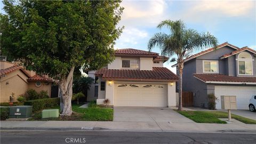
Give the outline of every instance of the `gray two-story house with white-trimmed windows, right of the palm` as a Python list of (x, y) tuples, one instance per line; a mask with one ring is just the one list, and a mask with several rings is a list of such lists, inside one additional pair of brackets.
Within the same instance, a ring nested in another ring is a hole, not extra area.
[(194, 106), (208, 107), (207, 94), (214, 93), (217, 109), (221, 95), (236, 95), (237, 109), (248, 109), (251, 96), (256, 95), (256, 51), (226, 42), (216, 50), (191, 55), (184, 63), (182, 89), (193, 92)]

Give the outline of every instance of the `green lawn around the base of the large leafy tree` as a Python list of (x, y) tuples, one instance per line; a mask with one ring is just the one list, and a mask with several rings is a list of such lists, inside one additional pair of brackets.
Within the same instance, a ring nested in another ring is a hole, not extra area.
[[(60, 116), (58, 118), (41, 119), (41, 111), (34, 113), (34, 116), (29, 121), (113, 121), (112, 108), (79, 108), (81, 105), (72, 105), (72, 110), (75, 112), (71, 116)], [(59, 106), (45, 109), (60, 109)]]

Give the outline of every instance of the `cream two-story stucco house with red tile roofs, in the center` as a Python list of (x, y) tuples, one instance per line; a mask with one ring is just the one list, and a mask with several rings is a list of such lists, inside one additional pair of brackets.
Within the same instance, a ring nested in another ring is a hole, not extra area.
[(89, 71), (95, 79), (88, 101), (101, 104), (109, 99), (114, 106), (176, 106), (175, 82), (178, 77), (163, 67), (169, 58), (155, 52), (135, 49), (115, 51), (115, 60), (105, 68)]

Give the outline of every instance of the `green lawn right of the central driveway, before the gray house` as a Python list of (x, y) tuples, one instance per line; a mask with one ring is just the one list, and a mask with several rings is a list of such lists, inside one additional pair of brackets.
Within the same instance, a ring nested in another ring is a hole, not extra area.
[[(227, 122), (221, 121), (218, 118), (228, 118), (228, 113), (223, 111), (177, 111), (177, 112), (197, 123), (226, 124)], [(256, 124), (255, 120), (238, 116), (238, 115), (231, 114), (231, 118), (234, 118), (237, 121), (243, 122), (245, 124)]]

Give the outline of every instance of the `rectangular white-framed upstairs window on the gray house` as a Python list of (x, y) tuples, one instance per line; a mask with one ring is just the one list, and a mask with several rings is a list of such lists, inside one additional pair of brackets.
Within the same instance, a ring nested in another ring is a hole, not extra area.
[(204, 73), (219, 73), (219, 62), (212, 60), (203, 61), (203, 72)]

